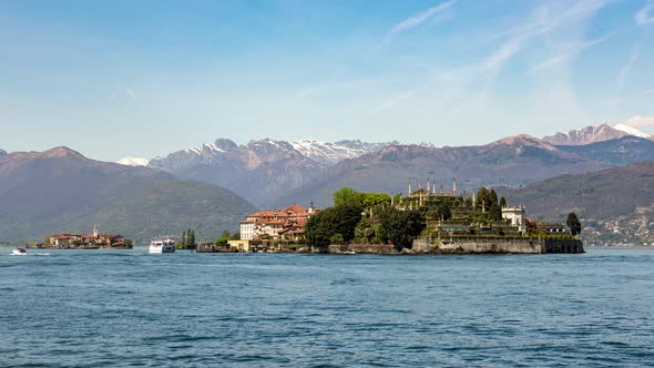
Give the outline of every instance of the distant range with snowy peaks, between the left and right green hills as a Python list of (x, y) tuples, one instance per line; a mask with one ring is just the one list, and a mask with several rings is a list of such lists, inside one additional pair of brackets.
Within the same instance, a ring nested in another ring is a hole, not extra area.
[(643, 136), (626, 125), (601, 124), (542, 140), (519, 135), (461, 147), (270, 139), (237, 145), (221, 139), (151, 160), (149, 166), (226, 187), (258, 207), (311, 201), (325, 206), (341, 186), (388, 193), (401, 192), (408, 180), (444, 183), (453, 177), (466, 188), (515, 186), (650, 160), (654, 142)]

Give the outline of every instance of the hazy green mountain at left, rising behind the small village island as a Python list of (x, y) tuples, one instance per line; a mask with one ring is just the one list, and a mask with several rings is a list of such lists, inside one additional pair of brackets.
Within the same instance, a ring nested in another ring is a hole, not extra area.
[(171, 174), (93, 161), (67, 147), (0, 156), (0, 241), (53, 233), (120, 233), (137, 242), (195, 228), (235, 231), (254, 207), (234, 193)]

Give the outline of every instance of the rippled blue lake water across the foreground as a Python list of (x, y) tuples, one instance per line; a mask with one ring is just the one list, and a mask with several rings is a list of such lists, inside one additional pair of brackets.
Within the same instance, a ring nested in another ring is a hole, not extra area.
[(0, 248), (0, 366), (654, 365), (654, 249)]

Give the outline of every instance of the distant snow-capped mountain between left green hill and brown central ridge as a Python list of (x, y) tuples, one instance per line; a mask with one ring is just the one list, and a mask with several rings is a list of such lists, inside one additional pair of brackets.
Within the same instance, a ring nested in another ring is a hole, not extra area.
[[(150, 161), (149, 166), (177, 177), (204, 181), (229, 188), (255, 204), (316, 178), (323, 170), (348, 159), (377, 153), (390, 143), (359, 140), (294, 142), (272, 139), (247, 144), (219, 139)], [(308, 205), (308, 204), (306, 204)]]

